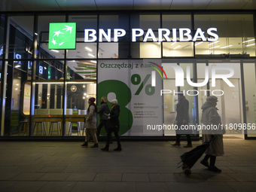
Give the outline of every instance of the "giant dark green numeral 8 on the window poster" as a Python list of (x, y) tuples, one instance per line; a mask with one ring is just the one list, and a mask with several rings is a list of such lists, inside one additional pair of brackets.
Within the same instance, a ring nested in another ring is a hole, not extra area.
[[(118, 100), (118, 105), (120, 105), (120, 131), (119, 135), (122, 136), (128, 130), (131, 129), (133, 125), (133, 114), (126, 108), (126, 105), (130, 102), (132, 98), (132, 93), (130, 88), (124, 84), (122, 81), (117, 80), (107, 80), (102, 81), (98, 84), (98, 98), (97, 103), (100, 103), (102, 96), (108, 96), (108, 93), (115, 93)], [(111, 110), (110, 102), (108, 102), (109, 109)], [(106, 136), (105, 131), (101, 132), (101, 135)]]

